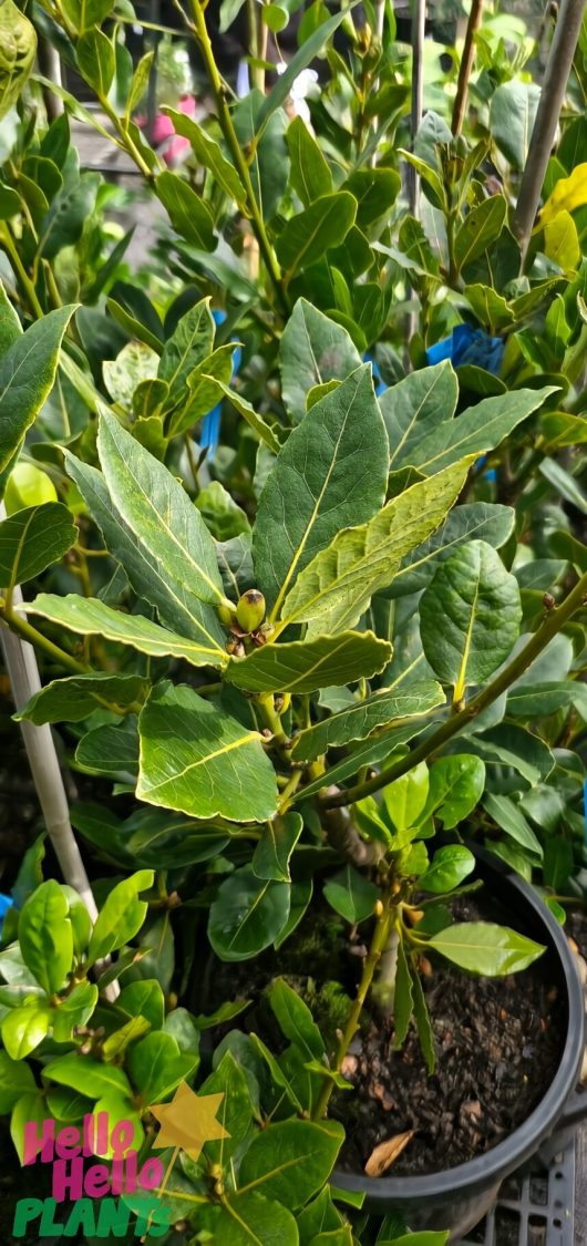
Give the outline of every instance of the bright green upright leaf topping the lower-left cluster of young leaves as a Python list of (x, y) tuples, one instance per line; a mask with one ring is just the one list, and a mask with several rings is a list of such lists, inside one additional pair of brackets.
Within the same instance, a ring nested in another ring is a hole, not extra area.
[(65, 984), (74, 962), (69, 903), (52, 878), (42, 882), (22, 906), (19, 918), (22, 959), (47, 996)]

